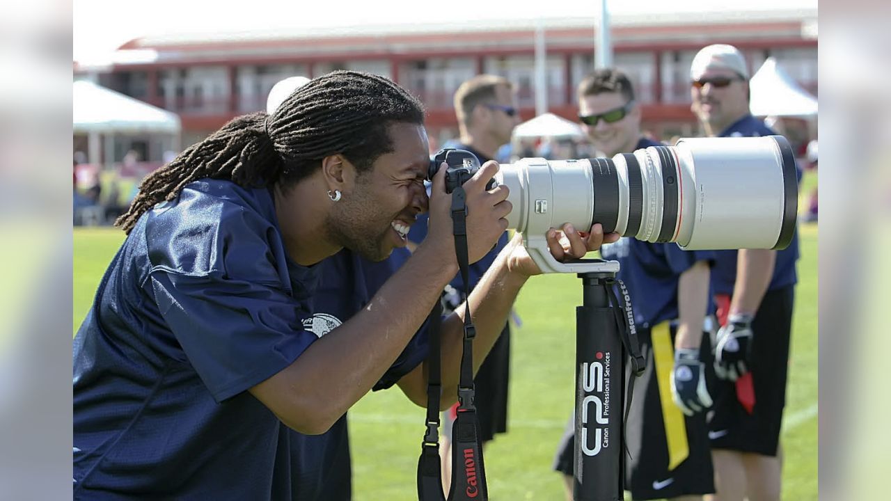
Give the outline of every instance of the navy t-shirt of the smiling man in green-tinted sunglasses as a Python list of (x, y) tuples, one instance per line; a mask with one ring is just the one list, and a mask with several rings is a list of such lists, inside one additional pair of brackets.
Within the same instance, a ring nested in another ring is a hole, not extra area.
[[(635, 150), (663, 145), (642, 138)], [(677, 284), (681, 274), (699, 261), (711, 263), (715, 259), (710, 250), (683, 250), (676, 243), (643, 242), (630, 237), (603, 244), (601, 256), (619, 262), (617, 277), (631, 293), (634, 322), (643, 327), (676, 319), (679, 314)], [(705, 312), (714, 309), (709, 299)]]

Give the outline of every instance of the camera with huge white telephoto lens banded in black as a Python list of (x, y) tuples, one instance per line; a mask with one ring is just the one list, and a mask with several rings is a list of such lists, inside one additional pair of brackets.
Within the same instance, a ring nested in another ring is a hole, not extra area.
[[(442, 150), (446, 191), (479, 168), (462, 150)], [(782, 136), (683, 138), (612, 158), (503, 164), (495, 183), (510, 188), (508, 227), (523, 234), (545, 272), (574, 273), (548, 251), (545, 234), (571, 223), (683, 249), (785, 249), (795, 233), (798, 189), (795, 155)]]

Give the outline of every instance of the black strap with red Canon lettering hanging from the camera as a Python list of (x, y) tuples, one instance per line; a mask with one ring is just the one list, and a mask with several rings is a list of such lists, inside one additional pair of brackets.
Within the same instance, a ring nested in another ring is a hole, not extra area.
[[(449, 501), (486, 501), (486, 472), (479, 439), (477, 408), (474, 406), (473, 339), (476, 327), (470, 320), (470, 259), (467, 250), (467, 203), (463, 186), (452, 192), (452, 233), (458, 267), (464, 282), (464, 347), (458, 382), (458, 414), (452, 426), (452, 488)], [(436, 318), (434, 318), (434, 316)], [(442, 304), (430, 312), (427, 386), (427, 432), (418, 459), (418, 499), (445, 501), (439, 462), (439, 399), (441, 386), (440, 327)]]

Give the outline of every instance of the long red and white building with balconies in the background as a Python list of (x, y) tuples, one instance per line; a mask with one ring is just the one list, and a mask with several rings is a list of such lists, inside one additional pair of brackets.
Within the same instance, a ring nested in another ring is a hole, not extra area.
[[(364, 70), (394, 79), (428, 109), (431, 146), (457, 135), (454, 91), (478, 73), (509, 78), (520, 115), (535, 115), (535, 30), (544, 31), (549, 111), (576, 119), (575, 89), (595, 66), (596, 22), (551, 19), (504, 23), (304, 30), (217, 36), (143, 37), (122, 45), (102, 67), (76, 63), (78, 76), (175, 111), (184, 145), (233, 117), (263, 110), (282, 78), (331, 70)], [(690, 136), (689, 69), (699, 48), (736, 45), (756, 71), (775, 57), (792, 78), (817, 93), (816, 11), (699, 13), (614, 17), (613, 63), (634, 80), (643, 127), (654, 136)]]

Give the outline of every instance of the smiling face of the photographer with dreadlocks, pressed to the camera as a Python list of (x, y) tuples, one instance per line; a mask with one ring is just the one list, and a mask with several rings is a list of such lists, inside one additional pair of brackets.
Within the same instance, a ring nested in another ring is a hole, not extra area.
[(405, 246), (408, 227), (427, 210), (427, 131), (421, 125), (394, 123), (388, 134), (393, 152), (380, 155), (372, 168), (356, 175), (324, 226), (331, 242), (371, 261), (387, 259), (393, 249)]

